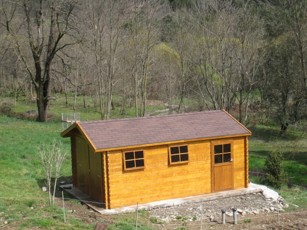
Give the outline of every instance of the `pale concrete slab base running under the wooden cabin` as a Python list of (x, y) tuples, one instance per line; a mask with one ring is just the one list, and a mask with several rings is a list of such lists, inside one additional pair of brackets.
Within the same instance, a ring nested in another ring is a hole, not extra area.
[[(65, 189), (65, 187), (68, 186), (71, 186), (71, 189)], [(101, 214), (118, 214), (125, 212), (134, 212), (137, 209), (136, 204), (121, 208), (105, 209), (102, 204), (97, 203), (97, 201), (93, 200), (88, 195), (85, 195), (79, 189), (72, 187), (72, 185), (62, 185), (61, 188), (63, 188), (63, 190), (65, 190), (72, 196), (76, 197), (77, 199), (82, 200), (82, 202), (85, 203), (87, 206), (89, 206), (94, 211), (99, 212)], [(227, 197), (237, 197), (237, 196), (259, 193), (259, 192), (264, 193), (266, 198), (276, 199), (278, 197), (278, 194), (275, 191), (267, 188), (266, 186), (249, 183), (248, 188), (229, 190), (218, 193), (209, 193), (192, 197), (182, 197), (176, 199), (167, 199), (150, 203), (143, 203), (138, 205), (138, 209), (141, 210), (144, 208), (153, 209), (159, 207), (171, 207), (181, 204), (197, 203), (201, 201), (209, 201), (209, 200), (215, 200)]]

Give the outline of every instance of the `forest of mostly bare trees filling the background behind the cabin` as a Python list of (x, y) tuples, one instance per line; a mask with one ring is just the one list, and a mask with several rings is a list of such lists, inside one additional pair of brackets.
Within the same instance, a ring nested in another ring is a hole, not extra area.
[[(224, 108), (285, 132), (307, 118), (306, 0), (1, 0), (0, 97), (91, 99), (101, 119)], [(193, 101), (193, 107), (187, 101)], [(75, 107), (73, 108), (75, 110)]]

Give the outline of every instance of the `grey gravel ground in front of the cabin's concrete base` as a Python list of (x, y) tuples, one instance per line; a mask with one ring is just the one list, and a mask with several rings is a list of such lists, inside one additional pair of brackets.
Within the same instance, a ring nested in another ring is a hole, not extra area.
[[(280, 213), (284, 212), (284, 207), (288, 207), (282, 199), (278, 205)], [(150, 212), (152, 222), (161, 224), (160, 229), (174, 229), (178, 224), (182, 224), (186, 229), (200, 229), (200, 222), (206, 228), (211, 228), (214, 224), (215, 228), (220, 226), (225, 229), (226, 226), (220, 224), (221, 209), (226, 210), (226, 225), (231, 227), (234, 207), (237, 208), (239, 223), (255, 222), (253, 219), (260, 219), (260, 216), (274, 216), (276, 222), (276, 200), (266, 199), (262, 193), (146, 210)]]

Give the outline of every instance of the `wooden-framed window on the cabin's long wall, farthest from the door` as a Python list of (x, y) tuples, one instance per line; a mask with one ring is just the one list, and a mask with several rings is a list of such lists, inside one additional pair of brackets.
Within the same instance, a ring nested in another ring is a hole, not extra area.
[(145, 168), (144, 151), (137, 150), (137, 151), (123, 152), (123, 167), (124, 170)]

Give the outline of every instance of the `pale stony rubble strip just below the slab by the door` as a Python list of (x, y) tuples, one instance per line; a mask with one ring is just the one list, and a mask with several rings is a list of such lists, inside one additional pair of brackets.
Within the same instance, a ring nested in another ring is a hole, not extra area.
[[(248, 215), (259, 215), (260, 213), (276, 213), (276, 200), (266, 198), (262, 193), (254, 193), (239, 197), (228, 197), (211, 201), (203, 201), (198, 203), (182, 204), (171, 207), (160, 207), (154, 209), (146, 209), (150, 215), (157, 218), (159, 222), (170, 222), (176, 220), (195, 221), (208, 220), (217, 222), (221, 220), (221, 209), (226, 209), (226, 219), (232, 219), (232, 208), (237, 208), (238, 217), (244, 218)], [(288, 204), (282, 198), (279, 198), (278, 209), (283, 212), (283, 207)], [(231, 217), (231, 218), (230, 218)]]

